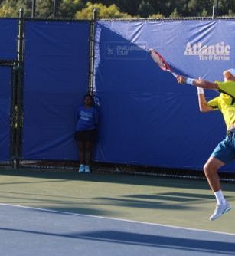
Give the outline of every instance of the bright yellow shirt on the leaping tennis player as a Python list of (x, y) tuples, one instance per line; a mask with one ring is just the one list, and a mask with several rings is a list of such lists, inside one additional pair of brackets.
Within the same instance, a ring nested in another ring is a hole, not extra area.
[(220, 96), (208, 101), (208, 105), (214, 110), (220, 110), (224, 116), (227, 129), (235, 122), (235, 82), (215, 81), (219, 86)]

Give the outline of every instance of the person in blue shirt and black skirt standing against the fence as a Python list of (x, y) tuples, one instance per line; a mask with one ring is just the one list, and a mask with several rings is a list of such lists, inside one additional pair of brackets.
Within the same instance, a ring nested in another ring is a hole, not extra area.
[(93, 107), (93, 98), (90, 94), (84, 96), (84, 104), (76, 113), (75, 139), (79, 149), (80, 167), (79, 172), (90, 172), (93, 143), (96, 139), (96, 125), (99, 115)]

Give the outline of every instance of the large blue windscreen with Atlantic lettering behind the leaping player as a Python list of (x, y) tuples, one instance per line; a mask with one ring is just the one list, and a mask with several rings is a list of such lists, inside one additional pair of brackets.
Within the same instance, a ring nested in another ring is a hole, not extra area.
[[(179, 85), (160, 70), (147, 49), (159, 51), (178, 74), (223, 80), (223, 71), (234, 68), (234, 25), (231, 20), (98, 21), (96, 161), (202, 169), (226, 134), (223, 117), (219, 111), (200, 113), (196, 88)], [(218, 96), (209, 90), (205, 95)]]

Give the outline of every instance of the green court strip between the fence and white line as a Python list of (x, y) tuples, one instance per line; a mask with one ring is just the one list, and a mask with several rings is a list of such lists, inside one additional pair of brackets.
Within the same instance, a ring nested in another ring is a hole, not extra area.
[(205, 180), (75, 171), (0, 171), (0, 202), (235, 234), (235, 184), (222, 183), (232, 211), (214, 222)]

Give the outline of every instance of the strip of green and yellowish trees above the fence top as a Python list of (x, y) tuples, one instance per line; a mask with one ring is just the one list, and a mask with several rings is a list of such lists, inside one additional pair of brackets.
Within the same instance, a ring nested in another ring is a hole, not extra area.
[[(35, 0), (36, 18), (91, 18), (93, 8), (99, 18), (162, 18), (205, 17), (213, 14), (215, 0)], [(219, 16), (234, 17), (235, 0), (217, 0)], [(24, 17), (31, 17), (32, 0), (0, 0), (0, 17), (18, 17), (24, 8)]]

